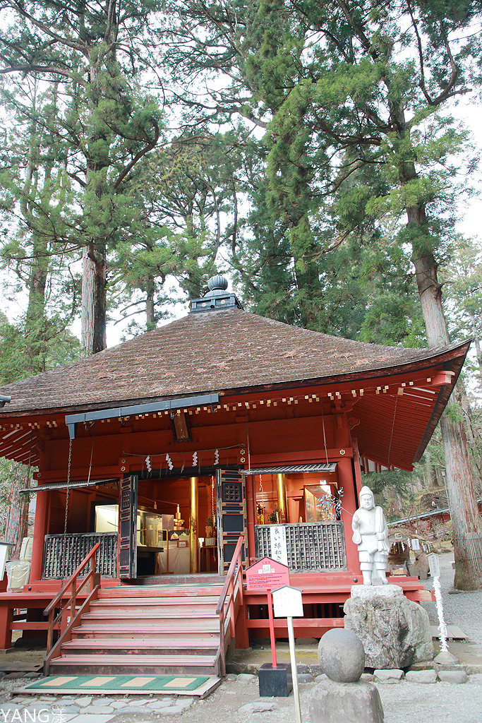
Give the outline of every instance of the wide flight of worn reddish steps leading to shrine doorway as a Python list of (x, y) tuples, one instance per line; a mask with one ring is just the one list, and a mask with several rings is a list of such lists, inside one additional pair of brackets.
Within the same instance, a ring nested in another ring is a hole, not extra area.
[(215, 609), (221, 589), (215, 584), (100, 590), (60, 656), (51, 659), (50, 675), (219, 675)]

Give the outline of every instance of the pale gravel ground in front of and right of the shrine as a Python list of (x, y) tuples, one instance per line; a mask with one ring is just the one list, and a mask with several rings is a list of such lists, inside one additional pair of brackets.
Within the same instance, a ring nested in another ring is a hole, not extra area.
[[(482, 591), (449, 594), (452, 589), (452, 555), (444, 555), (441, 565), (442, 594), (447, 623), (459, 625), (468, 640), (482, 643)], [(427, 581), (426, 587), (430, 587)], [(435, 603), (424, 603), (432, 623), (438, 623)], [(22, 709), (51, 709), (43, 714), (45, 723), (293, 723), (295, 710), (293, 696), (289, 698), (259, 698), (256, 677), (235, 675), (217, 688), (203, 701), (197, 698), (171, 696), (22, 696), (18, 688), (29, 681), (5, 680), (0, 683), (0, 723), (25, 721)], [(309, 696), (316, 683), (299, 686), (301, 717), (309, 723)], [(384, 707), (384, 723), (482, 723), (482, 673), (469, 675), (468, 683), (409, 683), (403, 680), (392, 685), (377, 685)], [(82, 703), (82, 706), (80, 705)], [(162, 707), (163, 706), (163, 707)], [(251, 706), (245, 709), (244, 706)], [(254, 711), (261, 706), (262, 711)], [(11, 713), (6, 714), (10, 707)], [(63, 709), (59, 718), (55, 709)], [(19, 713), (14, 716), (14, 710)], [(27, 717), (31, 721), (32, 717)], [(40, 719), (38, 719), (40, 721)], [(311, 723), (323, 723), (322, 720)], [(340, 719), (340, 723), (356, 723)]]

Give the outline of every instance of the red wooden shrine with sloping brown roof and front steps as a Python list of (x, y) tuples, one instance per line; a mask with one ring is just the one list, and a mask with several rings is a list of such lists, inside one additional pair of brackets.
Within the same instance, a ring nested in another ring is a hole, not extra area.
[[(343, 626), (362, 479), (421, 458), (469, 342), (351, 341), (246, 312), (222, 277), (209, 286), (181, 319), (0, 389), (0, 455), (38, 469), (22, 492), (37, 497), (30, 581), (0, 594), (1, 647), (12, 630), (46, 635), (43, 610), (95, 546), (100, 583), (61, 622), (56, 672), (222, 675), (231, 639), (267, 636), (266, 594), (241, 578), (263, 557), (302, 590), (296, 636)], [(423, 599), (418, 579), (390, 581)]]

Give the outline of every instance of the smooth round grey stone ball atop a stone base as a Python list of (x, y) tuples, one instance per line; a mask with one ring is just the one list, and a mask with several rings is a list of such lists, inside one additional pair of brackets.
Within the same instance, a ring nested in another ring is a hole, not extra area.
[(319, 641), (318, 660), (332, 680), (356, 683), (365, 667), (363, 643), (351, 630), (332, 628)]

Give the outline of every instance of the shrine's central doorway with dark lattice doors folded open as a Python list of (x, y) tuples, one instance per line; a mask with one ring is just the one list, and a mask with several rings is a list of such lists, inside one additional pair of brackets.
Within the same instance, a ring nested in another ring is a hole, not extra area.
[[(126, 476), (119, 505), (119, 577), (224, 576), (240, 535), (247, 560), (246, 485), (238, 471)], [(154, 580), (152, 580), (152, 583)]]

